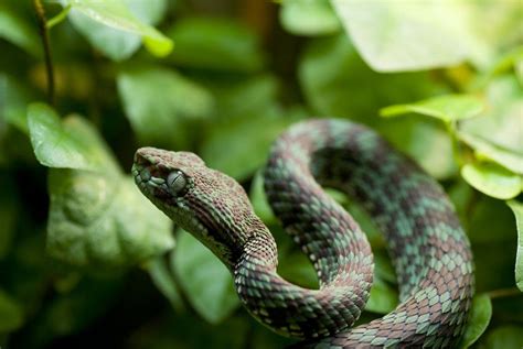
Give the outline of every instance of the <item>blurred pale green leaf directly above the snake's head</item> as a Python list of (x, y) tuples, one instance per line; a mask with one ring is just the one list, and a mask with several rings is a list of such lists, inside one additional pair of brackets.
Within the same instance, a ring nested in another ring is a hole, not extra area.
[(184, 148), (183, 121), (212, 113), (212, 95), (177, 72), (156, 66), (122, 70), (118, 92), (126, 116), (142, 143)]

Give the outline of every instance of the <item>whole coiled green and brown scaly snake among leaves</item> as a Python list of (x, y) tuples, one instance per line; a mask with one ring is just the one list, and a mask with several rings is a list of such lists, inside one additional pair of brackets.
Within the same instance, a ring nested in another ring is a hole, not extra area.
[[(247, 312), (301, 339), (296, 348), (459, 343), (474, 288), (470, 242), (440, 184), (371, 128), (346, 119), (298, 122), (275, 141), (263, 170), (267, 200), (312, 263), (316, 290), (278, 274), (275, 239), (243, 186), (196, 154), (140, 148), (131, 172), (150, 201), (227, 266)], [(397, 275), (396, 308), (355, 327), (370, 297), (373, 253), (324, 188), (365, 210)]]

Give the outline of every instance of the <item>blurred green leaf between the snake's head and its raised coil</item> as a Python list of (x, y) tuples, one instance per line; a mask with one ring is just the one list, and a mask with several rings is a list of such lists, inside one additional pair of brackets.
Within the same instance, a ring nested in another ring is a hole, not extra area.
[(259, 75), (212, 87), (218, 118), (201, 145), (209, 166), (243, 179), (265, 162), (270, 143), (297, 119), (291, 110), (287, 118), (280, 116), (278, 83), (271, 75)]

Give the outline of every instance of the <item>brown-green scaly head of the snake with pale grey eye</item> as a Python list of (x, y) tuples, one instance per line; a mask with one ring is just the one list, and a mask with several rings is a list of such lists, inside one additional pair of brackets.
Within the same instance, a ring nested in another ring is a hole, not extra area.
[[(195, 154), (141, 148), (132, 175), (140, 190), (174, 223), (226, 265), (234, 265), (256, 221), (243, 187)], [(254, 218), (253, 218), (254, 217)]]

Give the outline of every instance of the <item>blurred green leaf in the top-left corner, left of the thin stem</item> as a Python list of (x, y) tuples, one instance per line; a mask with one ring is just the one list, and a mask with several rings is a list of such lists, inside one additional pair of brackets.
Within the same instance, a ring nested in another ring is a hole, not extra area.
[(36, 26), (25, 19), (9, 1), (0, 3), (0, 37), (15, 44), (34, 56), (41, 54)]

